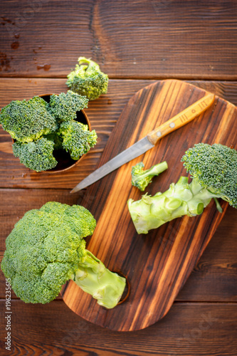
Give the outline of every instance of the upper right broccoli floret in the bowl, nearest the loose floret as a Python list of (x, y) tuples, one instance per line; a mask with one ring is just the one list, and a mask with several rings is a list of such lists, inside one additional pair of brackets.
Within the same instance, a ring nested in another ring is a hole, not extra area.
[(60, 121), (73, 120), (77, 117), (77, 111), (88, 108), (88, 101), (86, 96), (73, 93), (71, 90), (66, 94), (53, 94), (50, 98), (51, 111)]

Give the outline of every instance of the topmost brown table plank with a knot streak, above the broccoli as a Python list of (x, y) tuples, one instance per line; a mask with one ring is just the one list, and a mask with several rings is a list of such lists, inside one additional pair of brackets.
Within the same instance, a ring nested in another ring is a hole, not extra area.
[[(43, 4), (43, 5), (42, 5)], [(236, 80), (235, 1), (1, 1), (1, 76)]]

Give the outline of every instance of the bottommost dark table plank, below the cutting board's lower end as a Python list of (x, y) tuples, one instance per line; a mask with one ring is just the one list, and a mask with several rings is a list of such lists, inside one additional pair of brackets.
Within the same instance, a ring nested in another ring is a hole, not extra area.
[[(4, 312), (4, 300), (0, 302)], [(150, 328), (119, 333), (88, 323), (63, 301), (11, 305), (13, 355), (236, 356), (236, 304), (175, 303)], [(1, 318), (1, 355), (6, 337)]]

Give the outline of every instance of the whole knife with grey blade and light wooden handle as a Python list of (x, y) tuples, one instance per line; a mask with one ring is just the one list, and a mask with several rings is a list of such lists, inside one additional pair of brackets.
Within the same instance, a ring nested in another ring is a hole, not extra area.
[(177, 130), (179, 127), (186, 125), (191, 120), (194, 120), (195, 117), (199, 116), (202, 112), (209, 108), (212, 103), (214, 103), (214, 99), (214, 94), (209, 93), (208, 95), (205, 95), (204, 98), (196, 101), (194, 104), (172, 117), (172, 119), (169, 119), (159, 127), (155, 128), (152, 132), (149, 132), (147, 136), (142, 138), (142, 140), (137, 141), (134, 145), (128, 147), (126, 150), (110, 159), (110, 161), (103, 164), (100, 168), (95, 169), (93, 173), (89, 174), (88, 177), (75, 186), (70, 193), (75, 193), (88, 187), (90, 184), (97, 182), (102, 177), (105, 177), (105, 175), (121, 167), (122, 164), (130, 162), (132, 159), (142, 155), (142, 153), (147, 152), (154, 147), (154, 145), (156, 145), (158, 140), (168, 135), (169, 132)]

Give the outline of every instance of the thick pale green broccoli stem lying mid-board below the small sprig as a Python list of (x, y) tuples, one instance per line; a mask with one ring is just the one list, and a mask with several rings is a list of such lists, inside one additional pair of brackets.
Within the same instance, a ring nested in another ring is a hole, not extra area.
[(188, 184), (188, 177), (180, 177), (166, 192), (159, 192), (154, 197), (145, 194), (138, 201), (129, 199), (127, 205), (137, 233), (147, 234), (181, 216), (200, 215), (215, 197), (221, 196), (204, 189), (195, 179)]

